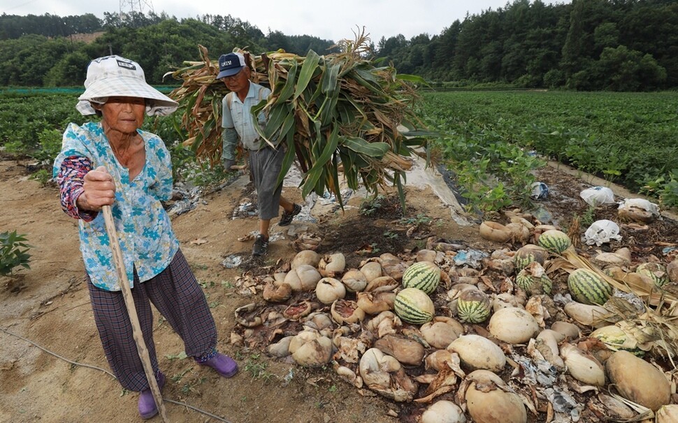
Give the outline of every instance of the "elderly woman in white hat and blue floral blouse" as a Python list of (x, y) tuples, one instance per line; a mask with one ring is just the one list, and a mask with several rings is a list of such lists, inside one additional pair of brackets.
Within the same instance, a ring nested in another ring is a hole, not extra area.
[(142, 131), (144, 113), (170, 114), (177, 103), (145, 81), (135, 61), (119, 56), (95, 59), (87, 68), (85, 93), (76, 105), (101, 119), (69, 124), (54, 164), (66, 214), (78, 219), (80, 251), (103, 350), (125, 389), (141, 392), (138, 408), (147, 419), (158, 413), (132, 337), (113, 265), (103, 206), (111, 206), (120, 235), (127, 277), (159, 387), (165, 382), (153, 342), (150, 302), (184, 341), (186, 355), (230, 378), (238, 365), (217, 352), (217, 330), (169, 216), (161, 205), (171, 198), (168, 149)]

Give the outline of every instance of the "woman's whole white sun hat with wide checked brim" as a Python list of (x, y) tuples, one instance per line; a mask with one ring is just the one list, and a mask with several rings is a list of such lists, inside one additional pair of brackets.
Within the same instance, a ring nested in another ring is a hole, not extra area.
[(84, 115), (96, 114), (89, 102), (106, 103), (113, 96), (146, 98), (148, 116), (166, 116), (179, 105), (146, 83), (143, 69), (136, 61), (115, 55), (90, 61), (85, 92), (78, 97), (75, 108)]

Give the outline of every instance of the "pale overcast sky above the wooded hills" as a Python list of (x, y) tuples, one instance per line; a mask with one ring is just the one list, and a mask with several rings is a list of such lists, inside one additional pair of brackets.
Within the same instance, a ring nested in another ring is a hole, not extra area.
[[(282, 31), (285, 35), (311, 35), (326, 40), (354, 39), (353, 31), (365, 27), (373, 42), (382, 36), (403, 34), (439, 35), (466, 13), (477, 15), (496, 10), (506, 0), (0, 0), (0, 14), (68, 16), (92, 13), (103, 19), (104, 12), (154, 10), (178, 19), (199, 15), (231, 15), (250, 22), (264, 34)], [(512, 3), (512, 1), (510, 2)], [(570, 3), (570, 0), (544, 3)], [(133, 7), (134, 6), (134, 7)]]

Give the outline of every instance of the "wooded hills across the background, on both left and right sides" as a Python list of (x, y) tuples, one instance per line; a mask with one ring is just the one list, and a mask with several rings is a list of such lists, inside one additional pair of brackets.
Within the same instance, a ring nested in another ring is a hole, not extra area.
[[(369, 29), (367, 29), (369, 31)], [(101, 31), (92, 43), (74, 34)], [(349, 38), (349, 37), (347, 37)], [(150, 82), (198, 60), (233, 50), (326, 54), (334, 40), (264, 34), (220, 15), (178, 20), (165, 13), (0, 16), (0, 86), (75, 86), (90, 59), (121, 54), (140, 62)], [(485, 85), (586, 91), (651, 91), (678, 87), (678, 2), (514, 0), (455, 20), (439, 35), (382, 37), (375, 58), (434, 86)]]

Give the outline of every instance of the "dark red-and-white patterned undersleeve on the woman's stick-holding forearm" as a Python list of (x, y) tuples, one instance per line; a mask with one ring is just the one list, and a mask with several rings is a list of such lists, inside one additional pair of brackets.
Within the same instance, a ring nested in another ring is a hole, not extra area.
[(89, 161), (89, 158), (68, 156), (62, 161), (57, 174), (62, 210), (68, 216), (82, 219), (86, 222), (93, 221), (98, 213), (96, 211), (79, 210), (76, 201), (78, 201), (78, 197), (84, 191), (82, 185), (85, 175), (90, 170), (92, 170), (92, 162)]

